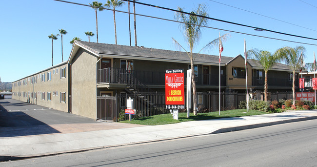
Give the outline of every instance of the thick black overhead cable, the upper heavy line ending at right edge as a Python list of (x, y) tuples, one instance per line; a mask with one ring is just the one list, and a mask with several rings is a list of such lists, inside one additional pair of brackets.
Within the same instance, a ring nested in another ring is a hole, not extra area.
[(193, 16), (197, 16), (197, 17), (201, 17), (201, 18), (205, 18), (205, 19), (211, 19), (211, 20), (214, 20), (214, 21), (221, 21), (221, 22), (226, 22), (226, 23), (230, 23), (230, 24), (240, 25), (240, 26), (244, 26), (244, 27), (254, 28), (254, 30), (257, 30), (257, 31), (268, 31), (268, 32), (273, 32), (273, 33), (277, 33), (277, 34), (283, 34), (283, 35), (288, 35), (288, 36), (293, 36), (293, 37), (298, 37), (298, 38), (305, 38), (305, 39), (316, 40), (317, 41), (316, 38), (303, 37), (303, 36), (298, 36), (298, 35), (293, 35), (293, 34), (287, 34), (287, 33), (283, 33), (283, 32), (273, 31), (273, 30), (269, 30), (269, 29), (265, 29), (265, 28), (254, 27), (254, 26), (251, 26), (251, 25), (245, 25), (245, 24), (240, 24), (240, 23), (231, 22), (231, 21), (224, 21), (224, 20), (220, 20), (220, 19), (215, 19), (215, 18), (210, 18), (210, 17), (206, 17), (206, 16), (196, 15), (196, 14), (192, 14), (192, 13), (188, 13), (188, 12), (178, 11), (178, 10), (175, 10), (175, 9), (170, 9), (170, 8), (166, 8), (166, 7), (160, 7), (160, 6), (147, 4), (147, 3), (142, 3), (142, 2), (137, 2), (137, 1), (133, 1), (133, 0), (123, 0), (123, 1), (138, 3), (138, 4), (141, 4), (141, 5), (146, 5), (146, 6), (151, 6), (151, 7), (157, 7), (157, 8), (160, 8), (160, 9), (170, 10), (170, 11), (179, 12), (179, 13), (183, 13), (183, 14), (187, 14), (187, 15), (193, 15)]

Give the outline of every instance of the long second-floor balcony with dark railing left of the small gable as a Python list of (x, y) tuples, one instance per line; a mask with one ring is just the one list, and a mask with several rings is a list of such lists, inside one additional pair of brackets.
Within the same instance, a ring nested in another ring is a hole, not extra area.
[[(186, 73), (184, 74), (186, 78)], [(130, 71), (121, 68), (104, 68), (97, 71), (97, 84), (127, 84), (133, 78), (146, 85), (164, 85), (165, 71)], [(221, 85), (226, 85), (226, 76), (221, 75)], [(219, 85), (219, 75), (197, 74), (196, 85)], [(186, 82), (184, 82), (186, 85)]]

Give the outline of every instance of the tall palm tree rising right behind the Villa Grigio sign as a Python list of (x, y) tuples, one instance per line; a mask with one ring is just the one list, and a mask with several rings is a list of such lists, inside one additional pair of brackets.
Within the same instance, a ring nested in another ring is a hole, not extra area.
[[(192, 11), (191, 13), (201, 15), (201, 16), (208, 16), (206, 12), (206, 6), (203, 4), (199, 4), (197, 9), (194, 9), (195, 11)], [(183, 11), (182, 8), (178, 7), (178, 11)], [(196, 56), (199, 54), (201, 50), (203, 50), (205, 47), (210, 47), (210, 46), (216, 46), (219, 43), (220, 39), (226, 40), (226, 37), (228, 34), (225, 34), (221, 36), (220, 38), (215, 39), (212, 42), (209, 42), (207, 45), (205, 45), (195, 56), (193, 55), (193, 48), (194, 46), (199, 42), (200, 36), (201, 36), (201, 26), (204, 26), (207, 24), (207, 20), (202, 17), (197, 17), (193, 15), (185, 15), (183, 13), (177, 12), (175, 15), (176, 20), (181, 21), (181, 22), (186, 22), (186, 23), (181, 23), (180, 27), (183, 29), (183, 34), (185, 36), (185, 39), (188, 43), (189, 46), (189, 52), (181, 46), (174, 38), (173, 41), (175, 42), (176, 45), (181, 47), (187, 54), (188, 57), (191, 61), (191, 70), (192, 70), (192, 87), (193, 87), (193, 100), (194, 100), (194, 106), (193, 106), (193, 113), (194, 115), (197, 115), (197, 99), (196, 99), (196, 84), (195, 84), (195, 72), (194, 72), (194, 61)]]

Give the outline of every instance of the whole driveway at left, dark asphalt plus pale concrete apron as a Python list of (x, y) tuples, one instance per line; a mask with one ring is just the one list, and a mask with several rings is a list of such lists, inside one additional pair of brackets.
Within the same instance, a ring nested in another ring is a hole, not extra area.
[(0, 137), (73, 133), (135, 126), (141, 125), (98, 122), (14, 99), (0, 100)]

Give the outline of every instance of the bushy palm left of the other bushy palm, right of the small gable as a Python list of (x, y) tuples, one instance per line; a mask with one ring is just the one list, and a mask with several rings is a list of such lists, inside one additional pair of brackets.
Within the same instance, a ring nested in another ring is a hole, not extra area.
[(277, 56), (272, 55), (266, 50), (250, 49), (248, 51), (249, 59), (255, 59), (263, 67), (265, 73), (264, 80), (264, 100), (267, 101), (267, 73), (278, 61)]

